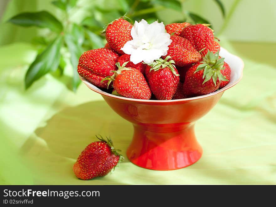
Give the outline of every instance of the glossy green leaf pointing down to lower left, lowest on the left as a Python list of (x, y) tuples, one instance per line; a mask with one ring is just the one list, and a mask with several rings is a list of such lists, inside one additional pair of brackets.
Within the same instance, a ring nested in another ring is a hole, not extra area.
[(50, 71), (55, 71), (60, 61), (62, 38), (59, 36), (40, 53), (30, 65), (25, 75), (25, 88), (28, 89), (34, 81)]

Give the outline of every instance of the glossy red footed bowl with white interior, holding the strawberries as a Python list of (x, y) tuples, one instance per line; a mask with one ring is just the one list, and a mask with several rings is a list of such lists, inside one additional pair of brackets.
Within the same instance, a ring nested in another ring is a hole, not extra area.
[(159, 101), (119, 97), (80, 78), (133, 124), (134, 135), (126, 152), (132, 163), (152, 170), (174, 170), (199, 160), (202, 148), (194, 134), (195, 122), (215, 106), (225, 90), (241, 80), (243, 61), (224, 48), (220, 56), (231, 67), (231, 81), (220, 90), (193, 98)]

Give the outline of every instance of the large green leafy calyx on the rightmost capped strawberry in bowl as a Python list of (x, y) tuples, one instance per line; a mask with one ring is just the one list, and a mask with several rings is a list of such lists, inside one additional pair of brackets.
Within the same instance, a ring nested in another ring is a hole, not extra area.
[(220, 72), (220, 70), (224, 69), (224, 58), (219, 58), (219, 51), (214, 54), (208, 50), (207, 54), (203, 57), (203, 61), (200, 63), (202, 64), (196, 68), (194, 73), (204, 69), (202, 79), (205, 79), (202, 84), (211, 78), (213, 79), (215, 86), (218, 78), (220, 81), (228, 81), (228, 79), (226, 79)]

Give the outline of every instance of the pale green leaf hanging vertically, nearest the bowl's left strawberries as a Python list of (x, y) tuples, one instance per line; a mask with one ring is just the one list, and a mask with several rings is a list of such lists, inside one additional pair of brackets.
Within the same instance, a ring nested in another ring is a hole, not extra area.
[(79, 78), (79, 74), (77, 72), (77, 65), (79, 61), (79, 57), (82, 55), (82, 48), (77, 44), (75, 41), (74, 36), (71, 34), (65, 35), (65, 42), (70, 52), (70, 62), (72, 64), (73, 69), (73, 84), (72, 89), (73, 91), (77, 90), (77, 87), (81, 83), (81, 79)]

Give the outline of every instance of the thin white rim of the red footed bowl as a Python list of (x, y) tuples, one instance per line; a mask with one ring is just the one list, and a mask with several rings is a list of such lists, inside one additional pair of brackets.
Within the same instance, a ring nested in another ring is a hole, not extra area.
[[(225, 50), (226, 52), (228, 52), (226, 49), (224, 49), (223, 47), (221, 47), (223, 50)], [(230, 52), (228, 52), (230, 53)], [(193, 100), (198, 100), (198, 99), (203, 99), (203, 98), (207, 98), (207, 97), (210, 97), (210, 96), (213, 96), (213, 95), (216, 95), (216, 94), (219, 94), (219, 93), (222, 93), (224, 92), (225, 90), (233, 87), (234, 85), (236, 85), (238, 82), (240, 82), (242, 76), (243, 76), (243, 68), (244, 68), (244, 63), (242, 61), (242, 59), (232, 53), (230, 53), (232, 56), (238, 58), (241, 62), (241, 75), (240, 77), (235, 81), (233, 82), (232, 84), (227, 84), (225, 87), (219, 89), (219, 90), (216, 90), (212, 93), (209, 93), (209, 94), (206, 94), (206, 95), (200, 95), (200, 96), (195, 96), (195, 97), (191, 97), (191, 98), (184, 98), (184, 99), (175, 99), (175, 100), (146, 100), (146, 99), (134, 99), (134, 98), (126, 98), (126, 97), (122, 97), (122, 96), (117, 96), (117, 95), (113, 95), (113, 94), (109, 94), (107, 92), (104, 92), (102, 91), (101, 89), (99, 89), (97, 86), (93, 85), (92, 83), (88, 82), (86, 79), (84, 79), (83, 77), (79, 76), (79, 78), (82, 80), (82, 82), (84, 82), (84, 84), (86, 84), (86, 86), (101, 94), (101, 95), (104, 95), (104, 96), (109, 96), (109, 97), (112, 97), (112, 98), (116, 98), (116, 99), (120, 99), (120, 100), (125, 100), (125, 101), (135, 101), (135, 102), (144, 102), (144, 103), (175, 103), (175, 102), (181, 102), (181, 101), (193, 101)], [(89, 85), (93, 85), (97, 90), (93, 89), (91, 86)]]

